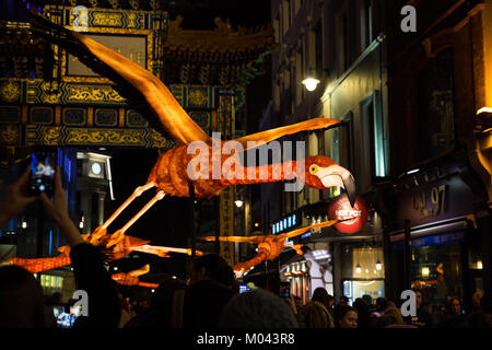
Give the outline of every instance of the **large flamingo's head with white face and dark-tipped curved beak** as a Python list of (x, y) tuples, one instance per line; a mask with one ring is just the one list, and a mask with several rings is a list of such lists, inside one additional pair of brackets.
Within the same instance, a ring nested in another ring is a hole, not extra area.
[(344, 167), (338, 165), (333, 160), (313, 155), (305, 160), (305, 184), (317, 189), (341, 187), (347, 191), (350, 205), (355, 203), (355, 179)]

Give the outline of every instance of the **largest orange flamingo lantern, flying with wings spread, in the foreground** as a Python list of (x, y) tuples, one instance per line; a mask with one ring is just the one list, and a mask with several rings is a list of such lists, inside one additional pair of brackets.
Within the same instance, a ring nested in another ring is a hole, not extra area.
[[(176, 140), (176, 145), (159, 158), (147, 183), (139, 186), (113, 215), (91, 234), (89, 242), (97, 241), (101, 236), (105, 236), (108, 226), (125, 208), (134, 198), (151, 188), (156, 188), (155, 196), (128, 223), (114, 232), (112, 237), (113, 242), (122, 240), (125, 232), (155, 202), (165, 196), (190, 197), (191, 186), (196, 198), (211, 198), (218, 196), (227, 186), (280, 182), (302, 177), (304, 184), (308, 187), (327, 189), (338, 186), (344, 188), (353, 205), (355, 184), (352, 174), (327, 156), (308, 156), (302, 163), (303, 167), (300, 166), (300, 168), (297, 168), (296, 161), (253, 167), (242, 166), (238, 165), (239, 162), (234, 162), (234, 173), (245, 174), (245, 176), (241, 176), (243, 178), (232, 178), (229, 176), (230, 174), (220, 174), (220, 178), (216, 178), (212, 174), (214, 168), (213, 163), (219, 162), (220, 168), (222, 170), (225, 162), (230, 162), (232, 156), (238, 156), (238, 154), (225, 155), (214, 153), (212, 143), (219, 142), (222, 144), (222, 142), (210, 138), (188, 116), (159, 78), (143, 67), (85, 35), (56, 25), (36, 13), (32, 12), (32, 15), (34, 18), (33, 24), (35, 25), (33, 32), (65, 47), (67, 51), (77, 56), (94, 71), (103, 71), (105, 75), (110, 75), (110, 79), (117, 82), (114, 88), (118, 91), (126, 91), (128, 95), (128, 89), (131, 89), (133, 95), (129, 96), (143, 96), (148, 107), (155, 114), (162, 127)], [(246, 151), (250, 148), (258, 147), (258, 143), (267, 143), (286, 135), (328, 128), (339, 122), (339, 119), (314, 118), (245, 136), (234, 141), (242, 144)], [(209, 156), (207, 162), (210, 165), (208, 166), (209, 176), (204, 176), (204, 178), (203, 176), (197, 175), (203, 171), (202, 168), (199, 170), (198, 167), (188, 166), (196, 156), (196, 154), (188, 153), (188, 147), (194, 141), (203, 142), (211, 150), (211, 152), (208, 152)], [(222, 145), (220, 149), (222, 149)], [(190, 170), (195, 172), (194, 176), (189, 176)], [(254, 178), (248, 176), (251, 173), (256, 174)], [(280, 176), (277, 174), (280, 174)]]

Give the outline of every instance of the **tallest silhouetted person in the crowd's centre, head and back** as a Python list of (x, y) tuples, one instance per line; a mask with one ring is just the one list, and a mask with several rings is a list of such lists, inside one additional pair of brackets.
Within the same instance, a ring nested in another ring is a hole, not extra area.
[(235, 293), (232, 267), (216, 254), (206, 254), (191, 265), (190, 281), (185, 293), (183, 326), (216, 328), (225, 304)]

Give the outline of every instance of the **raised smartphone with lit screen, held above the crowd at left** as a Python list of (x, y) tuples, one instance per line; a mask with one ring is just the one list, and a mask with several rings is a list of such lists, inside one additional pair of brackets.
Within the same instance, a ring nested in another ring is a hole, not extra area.
[(36, 150), (31, 154), (30, 191), (33, 196), (45, 192), (52, 196), (55, 189), (56, 150)]

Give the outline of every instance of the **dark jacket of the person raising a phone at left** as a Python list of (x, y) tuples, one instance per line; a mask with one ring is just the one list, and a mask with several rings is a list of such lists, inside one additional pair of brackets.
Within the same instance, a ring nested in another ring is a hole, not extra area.
[(80, 316), (74, 328), (117, 328), (121, 315), (116, 282), (104, 267), (101, 250), (87, 243), (70, 252), (78, 290), (87, 292), (89, 316)]

